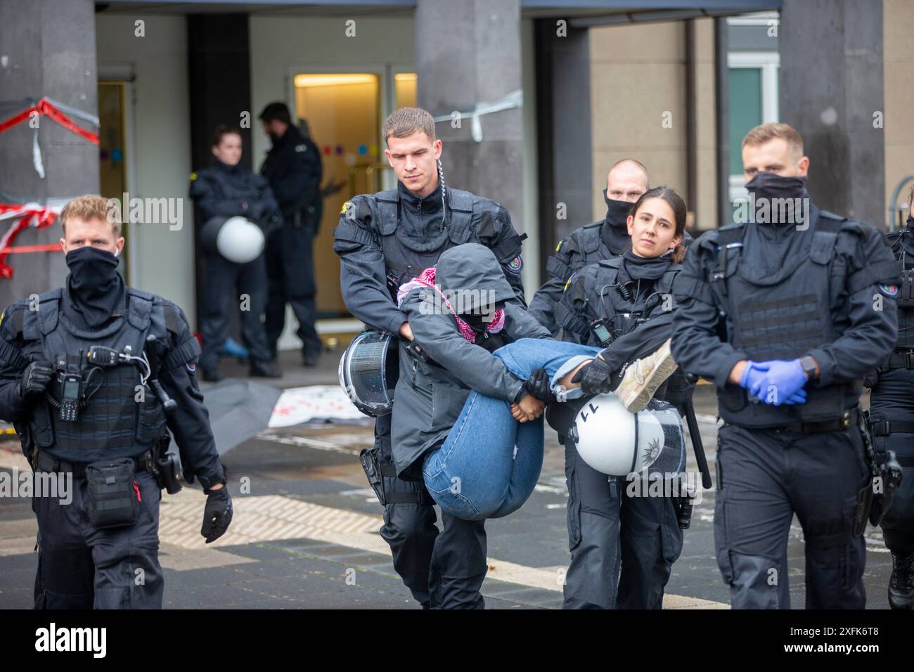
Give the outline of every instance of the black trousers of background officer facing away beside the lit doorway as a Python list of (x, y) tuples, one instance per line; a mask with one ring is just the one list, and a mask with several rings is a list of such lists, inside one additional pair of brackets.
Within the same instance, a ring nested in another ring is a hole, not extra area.
[(296, 335), (302, 340), (304, 357), (321, 354), (323, 345), (314, 328), (317, 308), (314, 304), (314, 261), (312, 233), (309, 226), (297, 229), (283, 225), (273, 229), (267, 239), (267, 279), (270, 291), (264, 325), (271, 352), (285, 327), (285, 306), (292, 305), (298, 321)]

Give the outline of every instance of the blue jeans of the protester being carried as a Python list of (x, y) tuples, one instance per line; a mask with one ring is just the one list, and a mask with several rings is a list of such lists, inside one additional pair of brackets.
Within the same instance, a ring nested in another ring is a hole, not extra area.
[[(537, 368), (555, 377), (571, 357), (595, 357), (599, 347), (521, 338), (494, 352), (519, 379)], [(448, 438), (422, 464), (422, 478), (445, 513), (466, 520), (507, 516), (537, 485), (543, 466), (543, 418), (518, 422), (504, 400), (471, 392)]]

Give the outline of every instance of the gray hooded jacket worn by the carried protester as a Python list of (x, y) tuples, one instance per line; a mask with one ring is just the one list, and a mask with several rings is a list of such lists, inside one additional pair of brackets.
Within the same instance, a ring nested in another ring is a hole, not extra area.
[[(452, 247), (441, 254), (436, 268), (436, 283), (455, 310), (469, 313), (481, 303), (505, 303), (505, 326), (498, 336), (506, 341), (550, 337), (545, 327), (513, 301), (515, 293), (488, 248), (477, 243)], [(462, 304), (452, 298), (458, 293)], [(421, 478), (420, 458), (441, 447), (472, 389), (511, 402), (522, 396), (525, 381), (484, 347), (461, 336), (453, 313), (433, 289), (412, 290), (400, 309), (407, 316), (415, 344), (432, 361), (400, 344), (390, 436), (397, 473)]]

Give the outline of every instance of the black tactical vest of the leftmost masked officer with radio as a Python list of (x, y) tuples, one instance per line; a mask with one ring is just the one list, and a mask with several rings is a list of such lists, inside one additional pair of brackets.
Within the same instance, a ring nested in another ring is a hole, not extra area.
[(126, 315), (95, 331), (77, 328), (62, 314), (60, 303), (66, 300), (62, 288), (41, 294), (37, 310), (24, 311), (23, 354), (32, 361), (49, 361), (55, 368), (79, 370), (85, 381), (88, 402), (77, 421), (59, 417), (56, 405), (63, 390), (55, 376), (48, 385), (51, 400), (39, 400), (29, 422), (32, 442), (58, 460), (89, 463), (135, 457), (165, 433), (164, 408), (153, 391), (141, 384), (142, 366), (96, 368), (86, 359), (91, 346), (118, 352), (129, 347), (141, 357), (147, 336), (167, 337), (165, 309), (154, 304), (153, 294), (131, 287), (126, 294)]

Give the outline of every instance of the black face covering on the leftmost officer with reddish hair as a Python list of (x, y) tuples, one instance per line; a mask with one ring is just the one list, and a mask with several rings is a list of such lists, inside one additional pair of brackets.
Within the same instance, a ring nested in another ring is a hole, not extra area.
[(86, 324), (97, 327), (111, 319), (123, 299), (117, 257), (89, 246), (67, 253), (67, 293), (71, 307)]

